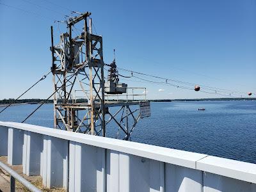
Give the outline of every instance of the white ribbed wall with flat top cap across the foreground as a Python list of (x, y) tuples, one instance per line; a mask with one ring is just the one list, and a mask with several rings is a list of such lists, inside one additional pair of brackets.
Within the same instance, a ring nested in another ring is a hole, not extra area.
[(0, 156), (69, 191), (256, 191), (256, 164), (29, 124), (0, 122)]

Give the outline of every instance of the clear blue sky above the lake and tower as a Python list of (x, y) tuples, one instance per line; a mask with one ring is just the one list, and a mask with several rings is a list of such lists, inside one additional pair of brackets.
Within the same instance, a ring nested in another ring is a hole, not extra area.
[[(105, 63), (113, 60), (116, 49), (118, 67), (256, 92), (256, 1), (0, 0), (0, 99), (17, 97), (49, 70), (50, 26), (58, 38), (59, 28), (65, 26), (54, 20), (65, 19), (70, 10), (92, 12), (97, 33), (103, 36)], [(126, 83), (146, 86), (149, 99), (221, 97), (161, 84)], [(49, 76), (23, 98), (51, 93)]]

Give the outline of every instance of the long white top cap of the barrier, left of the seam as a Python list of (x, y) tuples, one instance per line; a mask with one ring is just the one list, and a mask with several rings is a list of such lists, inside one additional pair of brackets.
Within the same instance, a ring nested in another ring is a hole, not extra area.
[(24, 131), (31, 131), (46, 136), (53, 136), (63, 140), (75, 141), (77, 143), (83, 143), (95, 147), (116, 150), (118, 152), (124, 152), (135, 156), (147, 157), (148, 159), (177, 164), (179, 166), (185, 166), (193, 169), (195, 169), (195, 162), (198, 159), (202, 159), (202, 157), (206, 156), (204, 154), (186, 152), (184, 150), (158, 147), (132, 141), (116, 140), (113, 138), (103, 138), (100, 136), (68, 132), (60, 129), (51, 129), (38, 125), (21, 124), (16, 122), (0, 122), (0, 125), (4, 127), (22, 129)]

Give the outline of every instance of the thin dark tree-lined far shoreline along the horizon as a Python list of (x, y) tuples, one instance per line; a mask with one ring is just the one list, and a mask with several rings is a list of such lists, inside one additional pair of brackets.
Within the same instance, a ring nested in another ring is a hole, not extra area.
[[(151, 102), (175, 102), (175, 101), (213, 101), (213, 100), (256, 100), (255, 97), (252, 98), (211, 98), (211, 99), (149, 99)], [(12, 103), (12, 105), (20, 104), (39, 104), (44, 101), (44, 99), (19, 99), (14, 102), (14, 99), (3, 99), (0, 100), (0, 108), (7, 106)], [(86, 99), (77, 99), (77, 102), (87, 102)], [(53, 100), (47, 100), (47, 103), (53, 103)]]

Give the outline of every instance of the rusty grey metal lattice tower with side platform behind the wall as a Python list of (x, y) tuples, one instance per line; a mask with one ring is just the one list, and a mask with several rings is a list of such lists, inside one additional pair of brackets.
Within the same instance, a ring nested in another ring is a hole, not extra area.
[[(60, 43), (57, 45), (54, 45), (51, 27), (51, 70), (54, 92), (56, 92), (53, 99), (54, 128), (106, 136), (106, 125), (113, 120), (118, 125), (118, 132), (120, 129), (124, 131), (122, 139), (128, 140), (141, 118), (138, 106), (142, 100), (134, 100), (133, 93), (131, 94), (133, 99), (128, 99), (129, 88), (127, 84), (118, 83), (115, 60), (111, 65), (104, 64), (102, 36), (92, 33), (90, 15), (90, 12), (86, 12), (77, 17), (70, 17), (66, 21), (67, 32), (60, 35)], [(81, 24), (83, 30), (78, 35), (74, 35), (73, 29), (77, 31), (79, 25), (81, 28)], [(104, 77), (104, 66), (110, 67), (108, 78)], [(136, 88), (132, 88), (132, 92), (134, 89)], [(83, 99), (82, 97), (77, 99), (79, 92), (82, 93)], [(146, 91), (144, 92), (146, 94)], [(118, 95), (119, 97), (126, 95), (126, 99), (113, 99), (118, 98)], [(130, 106), (136, 106), (136, 109), (132, 110)], [(115, 114), (110, 108), (116, 109)], [(106, 120), (107, 115), (108, 120)], [(129, 116), (132, 119), (130, 127)]]

